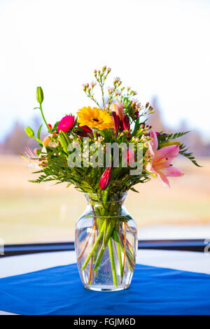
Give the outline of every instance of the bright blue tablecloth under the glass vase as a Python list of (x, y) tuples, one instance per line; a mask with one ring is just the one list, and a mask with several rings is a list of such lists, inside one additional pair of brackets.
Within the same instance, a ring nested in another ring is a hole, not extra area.
[(210, 275), (137, 265), (129, 289), (86, 290), (76, 264), (0, 279), (0, 309), (18, 314), (210, 314)]

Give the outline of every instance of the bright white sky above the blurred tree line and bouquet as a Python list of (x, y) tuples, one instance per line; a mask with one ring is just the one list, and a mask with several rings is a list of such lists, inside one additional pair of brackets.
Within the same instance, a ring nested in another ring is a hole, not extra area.
[(209, 32), (208, 0), (0, 0), (0, 140), (36, 114), (37, 85), (48, 123), (93, 105), (81, 85), (104, 64), (209, 140)]

